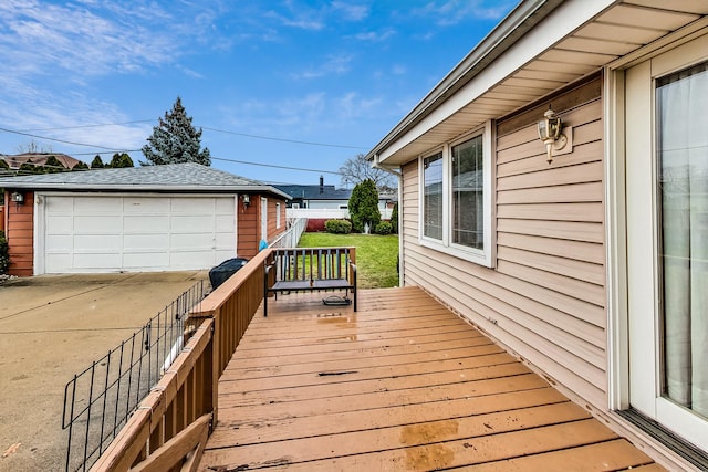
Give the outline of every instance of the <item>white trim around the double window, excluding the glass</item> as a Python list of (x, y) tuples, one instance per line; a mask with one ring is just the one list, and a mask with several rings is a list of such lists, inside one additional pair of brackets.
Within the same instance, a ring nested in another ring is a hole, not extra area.
[[(464, 259), (476, 264), (480, 264), (487, 268), (494, 266), (496, 251), (492, 248), (493, 234), (496, 228), (492, 227), (493, 222), (493, 208), (494, 208), (494, 195), (496, 189), (492, 186), (494, 181), (494, 166), (493, 166), (493, 139), (492, 139), (492, 122), (488, 120), (483, 127), (476, 128), (465, 136), (446, 143), (442, 148), (435, 148), (418, 157), (418, 242), (420, 245), (436, 251), (445, 252), (459, 259)], [(483, 192), (483, 249), (478, 250), (468, 248), (461, 244), (451, 243), (452, 232), (452, 208), (451, 208), (451, 180), (452, 180), (452, 166), (451, 166), (451, 149), (458, 144), (465, 143), (476, 136), (482, 136), (482, 156), (483, 156), (483, 174), (482, 182), (485, 186)], [(442, 150), (442, 240), (428, 238), (424, 234), (424, 190), (425, 190), (425, 175), (424, 175), (424, 159), (430, 157)]]

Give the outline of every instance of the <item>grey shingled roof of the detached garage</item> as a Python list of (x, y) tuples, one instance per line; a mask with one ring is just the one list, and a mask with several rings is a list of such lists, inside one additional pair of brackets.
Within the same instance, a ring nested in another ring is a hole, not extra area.
[(258, 180), (195, 162), (0, 178), (0, 188), (31, 190), (207, 191), (288, 193)]

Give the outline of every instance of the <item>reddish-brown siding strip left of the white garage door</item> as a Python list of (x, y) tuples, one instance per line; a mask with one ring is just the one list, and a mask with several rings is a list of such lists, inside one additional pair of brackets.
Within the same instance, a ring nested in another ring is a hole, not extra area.
[(6, 192), (7, 228), (6, 237), (10, 254), (8, 272), (17, 276), (30, 276), (34, 270), (34, 193), (24, 193), (24, 203), (10, 202), (10, 191)]

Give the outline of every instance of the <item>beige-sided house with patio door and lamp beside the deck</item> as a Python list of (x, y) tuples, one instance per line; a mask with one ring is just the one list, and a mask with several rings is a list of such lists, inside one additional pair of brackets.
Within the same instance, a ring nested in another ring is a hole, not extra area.
[(674, 470), (708, 469), (707, 14), (523, 1), (366, 156), (402, 172), (402, 283)]

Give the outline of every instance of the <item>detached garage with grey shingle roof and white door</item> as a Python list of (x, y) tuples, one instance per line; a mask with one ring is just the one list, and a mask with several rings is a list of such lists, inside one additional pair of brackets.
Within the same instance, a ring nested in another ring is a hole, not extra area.
[(14, 275), (209, 269), (287, 229), (285, 193), (198, 164), (6, 177), (0, 188)]

